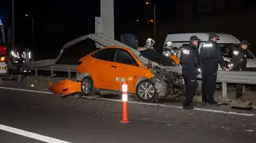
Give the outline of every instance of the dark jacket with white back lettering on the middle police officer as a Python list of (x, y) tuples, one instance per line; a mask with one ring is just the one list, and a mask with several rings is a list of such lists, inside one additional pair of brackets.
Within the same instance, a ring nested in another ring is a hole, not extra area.
[(222, 57), (222, 51), (218, 43), (208, 40), (204, 43), (200, 50), (200, 59), (202, 63), (220, 63), (222, 67), (225, 67), (224, 59)]

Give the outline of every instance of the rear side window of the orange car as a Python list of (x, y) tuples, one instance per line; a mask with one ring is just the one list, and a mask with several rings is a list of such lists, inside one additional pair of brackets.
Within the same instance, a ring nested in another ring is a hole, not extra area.
[(115, 50), (113, 48), (110, 49), (102, 49), (100, 51), (97, 51), (92, 55), (92, 57), (104, 61), (114, 61), (115, 59)]

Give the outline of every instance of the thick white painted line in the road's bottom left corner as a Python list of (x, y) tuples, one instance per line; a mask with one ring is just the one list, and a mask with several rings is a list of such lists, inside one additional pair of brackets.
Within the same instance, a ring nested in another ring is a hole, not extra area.
[(71, 142), (66, 142), (63, 140), (58, 140), (56, 138), (51, 138), (48, 136), (43, 136), (41, 134), (36, 134), (34, 132), (28, 132), (26, 130), (20, 130), (20, 129), (16, 129), (13, 127), (9, 127), (6, 125), (1, 125), (0, 124), (0, 130), (5, 130), (7, 132), (12, 132), (13, 134), (19, 134), (21, 136), (26, 136), (28, 138), (33, 138), (35, 140), (40, 140), (42, 142), (49, 142), (49, 143), (71, 143)]

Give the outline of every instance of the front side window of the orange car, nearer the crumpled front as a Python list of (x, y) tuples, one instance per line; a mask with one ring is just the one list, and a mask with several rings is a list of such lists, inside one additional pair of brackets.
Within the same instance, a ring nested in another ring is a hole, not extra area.
[(115, 59), (115, 62), (139, 66), (135, 59), (131, 56), (131, 54), (123, 49), (117, 50), (117, 57)]

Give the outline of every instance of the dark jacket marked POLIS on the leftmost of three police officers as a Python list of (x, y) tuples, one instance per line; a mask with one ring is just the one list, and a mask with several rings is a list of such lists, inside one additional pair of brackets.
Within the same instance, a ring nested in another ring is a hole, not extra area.
[(181, 66), (184, 69), (200, 67), (199, 52), (197, 46), (193, 43), (190, 43), (187, 47), (182, 49), (179, 59)]

